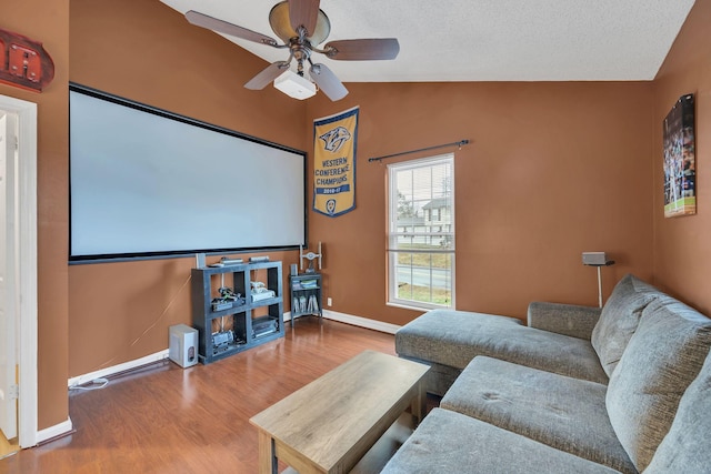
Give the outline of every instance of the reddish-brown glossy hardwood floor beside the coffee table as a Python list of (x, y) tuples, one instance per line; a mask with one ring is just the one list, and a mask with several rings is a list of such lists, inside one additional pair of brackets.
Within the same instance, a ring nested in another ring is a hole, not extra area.
[(1, 460), (0, 473), (256, 473), (249, 418), (367, 349), (394, 354), (394, 339), (304, 317), (209, 365), (166, 361), (72, 391), (74, 433)]

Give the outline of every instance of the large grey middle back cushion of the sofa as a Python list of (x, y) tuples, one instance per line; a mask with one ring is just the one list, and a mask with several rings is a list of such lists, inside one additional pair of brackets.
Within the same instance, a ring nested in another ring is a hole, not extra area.
[(639, 471), (669, 432), (711, 344), (711, 320), (669, 296), (650, 303), (612, 373), (608, 413)]

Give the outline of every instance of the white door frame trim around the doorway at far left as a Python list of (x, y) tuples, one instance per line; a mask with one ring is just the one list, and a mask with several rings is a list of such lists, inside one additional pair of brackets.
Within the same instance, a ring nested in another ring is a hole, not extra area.
[(0, 95), (0, 109), (18, 115), (19, 273), (17, 313), (20, 340), (18, 441), (20, 447), (37, 444), (37, 104)]

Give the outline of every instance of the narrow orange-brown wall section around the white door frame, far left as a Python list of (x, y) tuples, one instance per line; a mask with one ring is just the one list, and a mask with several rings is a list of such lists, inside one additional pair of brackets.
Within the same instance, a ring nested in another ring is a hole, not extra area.
[[(29, 12), (29, 14), (28, 14)], [(43, 43), (54, 79), (42, 91), (0, 84), (0, 94), (38, 104), (38, 389), (40, 430), (67, 421), (67, 173), (69, 0), (2, 4), (0, 27)]]

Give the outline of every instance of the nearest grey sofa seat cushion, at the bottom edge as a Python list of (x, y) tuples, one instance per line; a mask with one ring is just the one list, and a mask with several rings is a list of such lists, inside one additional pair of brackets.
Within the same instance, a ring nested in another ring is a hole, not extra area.
[(382, 474), (610, 474), (615, 471), (525, 436), (448, 410), (434, 409)]

